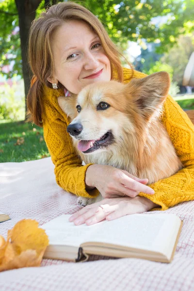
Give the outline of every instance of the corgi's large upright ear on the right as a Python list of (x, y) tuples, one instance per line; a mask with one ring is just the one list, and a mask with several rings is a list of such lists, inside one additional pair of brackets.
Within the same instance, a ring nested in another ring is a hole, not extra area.
[(170, 78), (168, 73), (158, 72), (142, 79), (132, 79), (127, 86), (132, 100), (141, 113), (148, 117), (161, 108), (169, 91)]

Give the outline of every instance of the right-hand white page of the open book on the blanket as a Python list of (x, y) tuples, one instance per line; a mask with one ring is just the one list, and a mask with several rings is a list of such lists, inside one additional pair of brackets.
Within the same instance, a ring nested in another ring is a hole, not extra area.
[(180, 226), (174, 214), (133, 214), (107, 221), (87, 242), (106, 242), (165, 253), (173, 247)]

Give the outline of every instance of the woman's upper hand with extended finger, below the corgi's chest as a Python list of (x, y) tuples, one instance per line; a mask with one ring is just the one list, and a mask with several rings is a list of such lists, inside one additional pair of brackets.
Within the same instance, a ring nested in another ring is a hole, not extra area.
[(85, 183), (86, 189), (96, 187), (103, 198), (120, 196), (135, 197), (140, 192), (154, 194), (154, 190), (145, 184), (148, 179), (139, 179), (127, 171), (107, 165), (91, 165), (87, 168)]

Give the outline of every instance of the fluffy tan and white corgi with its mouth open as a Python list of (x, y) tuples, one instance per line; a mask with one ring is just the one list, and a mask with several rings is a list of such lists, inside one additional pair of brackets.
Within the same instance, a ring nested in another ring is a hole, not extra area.
[[(160, 121), (169, 86), (169, 75), (159, 72), (127, 84), (97, 82), (77, 97), (59, 97), (82, 161), (126, 170), (148, 184), (177, 173), (183, 166)], [(80, 197), (79, 203), (100, 199)]]

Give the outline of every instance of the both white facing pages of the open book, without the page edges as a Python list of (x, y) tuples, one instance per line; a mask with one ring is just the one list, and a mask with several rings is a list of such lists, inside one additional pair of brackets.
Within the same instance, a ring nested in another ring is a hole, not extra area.
[(180, 225), (175, 214), (132, 214), (93, 226), (75, 226), (68, 222), (70, 216), (61, 215), (41, 226), (46, 230), (50, 244), (79, 247), (83, 242), (106, 242), (162, 251), (171, 236), (176, 235), (175, 225)]

